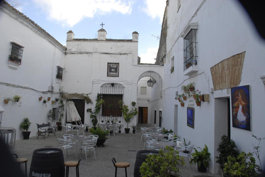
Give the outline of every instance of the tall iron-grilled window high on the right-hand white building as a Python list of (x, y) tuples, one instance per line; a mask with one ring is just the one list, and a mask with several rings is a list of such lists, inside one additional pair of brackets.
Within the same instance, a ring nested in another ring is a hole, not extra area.
[(197, 29), (191, 29), (184, 39), (184, 71), (197, 65)]

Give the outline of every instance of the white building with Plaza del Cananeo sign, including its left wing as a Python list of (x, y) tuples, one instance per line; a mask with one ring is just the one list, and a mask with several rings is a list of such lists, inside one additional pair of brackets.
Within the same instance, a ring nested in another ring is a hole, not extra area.
[[(5, 109), (2, 126), (16, 128), (17, 139), (22, 138), (23, 130), (19, 125), (25, 117), (32, 123), (30, 136), (37, 135), (36, 123), (48, 122), (48, 110), (60, 105), (59, 101), (55, 104), (51, 101), (58, 98), (60, 92), (73, 99), (82, 123), (90, 127), (90, 114), (86, 110), (95, 107), (98, 93), (103, 94), (106, 103), (98, 115), (98, 122), (114, 120), (125, 127), (120, 109), (115, 106), (117, 102), (123, 100), (132, 107), (132, 102), (137, 103), (138, 81), (150, 73), (154, 82), (163, 76), (163, 66), (138, 63), (139, 34), (136, 31), (132, 32), (132, 39), (121, 40), (108, 39), (104, 29), (98, 31), (97, 39), (75, 39), (70, 30), (65, 47), (5, 1), (0, 6), (0, 25), (3, 73), (0, 99), (21, 96), (20, 101), (12, 105), (0, 102)], [(84, 103), (82, 95), (86, 94), (93, 104)], [(39, 101), (41, 96), (43, 99)], [(48, 97), (51, 100), (44, 104), (43, 100)], [(63, 124), (66, 122), (65, 111)], [(129, 128), (132, 124), (136, 124), (136, 116), (131, 119)]]

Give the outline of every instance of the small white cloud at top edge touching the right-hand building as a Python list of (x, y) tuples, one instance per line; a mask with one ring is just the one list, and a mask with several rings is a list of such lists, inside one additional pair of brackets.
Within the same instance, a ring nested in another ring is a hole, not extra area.
[(145, 0), (144, 3), (147, 7), (143, 8), (143, 11), (153, 19), (159, 18), (162, 24), (166, 0)]

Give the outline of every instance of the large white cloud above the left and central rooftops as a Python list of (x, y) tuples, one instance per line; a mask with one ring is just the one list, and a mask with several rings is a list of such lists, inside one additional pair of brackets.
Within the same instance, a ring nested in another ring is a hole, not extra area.
[(74, 26), (85, 17), (93, 18), (98, 13), (112, 11), (122, 14), (131, 13), (131, 1), (124, 0), (33, 0), (48, 18), (61, 22), (63, 25)]

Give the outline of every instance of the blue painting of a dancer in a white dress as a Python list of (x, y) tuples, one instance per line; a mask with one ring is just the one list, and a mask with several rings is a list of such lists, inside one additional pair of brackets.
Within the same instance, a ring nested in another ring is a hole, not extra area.
[(231, 88), (232, 125), (251, 131), (250, 85)]

